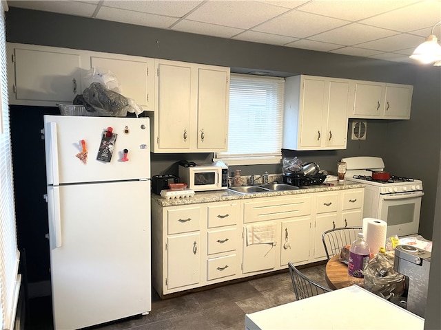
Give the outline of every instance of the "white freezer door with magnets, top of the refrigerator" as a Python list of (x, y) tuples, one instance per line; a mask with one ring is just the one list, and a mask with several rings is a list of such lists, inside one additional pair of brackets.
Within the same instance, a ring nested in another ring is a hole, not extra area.
[[(150, 178), (149, 123), (149, 118), (45, 115), (48, 184)], [(116, 140), (103, 148), (109, 128)], [(106, 155), (112, 151), (110, 162), (97, 159), (100, 148)]]

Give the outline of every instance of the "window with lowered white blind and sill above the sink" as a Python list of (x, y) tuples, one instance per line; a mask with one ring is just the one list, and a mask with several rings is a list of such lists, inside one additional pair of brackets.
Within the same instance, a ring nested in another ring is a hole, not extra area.
[(216, 159), (229, 165), (280, 163), (284, 87), (283, 78), (231, 75), (228, 151)]

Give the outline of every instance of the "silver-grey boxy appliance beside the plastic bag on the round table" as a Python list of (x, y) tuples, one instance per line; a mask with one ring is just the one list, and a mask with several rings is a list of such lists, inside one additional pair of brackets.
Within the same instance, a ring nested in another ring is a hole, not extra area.
[(431, 252), (412, 245), (397, 245), (393, 269), (409, 279), (407, 310), (424, 318), (429, 286)]

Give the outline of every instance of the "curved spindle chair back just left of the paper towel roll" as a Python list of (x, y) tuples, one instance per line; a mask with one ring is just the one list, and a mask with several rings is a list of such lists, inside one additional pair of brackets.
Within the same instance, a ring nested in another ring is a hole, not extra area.
[(357, 239), (359, 232), (362, 232), (361, 227), (334, 228), (324, 232), (322, 234), (322, 242), (328, 260), (340, 254), (345, 245), (351, 245)]

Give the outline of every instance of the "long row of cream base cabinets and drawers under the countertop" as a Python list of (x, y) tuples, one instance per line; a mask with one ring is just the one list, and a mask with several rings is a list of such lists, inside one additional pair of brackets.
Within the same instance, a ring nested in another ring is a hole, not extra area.
[(167, 296), (323, 261), (322, 232), (360, 225), (364, 190), (176, 206), (152, 199), (152, 284)]

